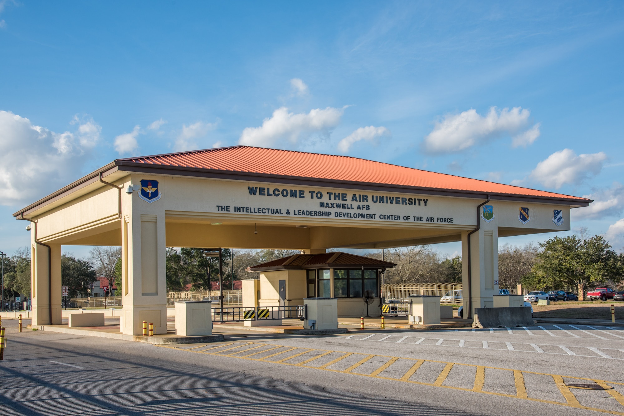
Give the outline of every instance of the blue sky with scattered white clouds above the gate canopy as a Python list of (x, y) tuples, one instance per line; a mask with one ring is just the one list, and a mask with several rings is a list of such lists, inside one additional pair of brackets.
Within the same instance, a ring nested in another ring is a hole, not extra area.
[(0, 250), (116, 157), (239, 143), (590, 196), (622, 250), (622, 45), (618, 1), (0, 0)]

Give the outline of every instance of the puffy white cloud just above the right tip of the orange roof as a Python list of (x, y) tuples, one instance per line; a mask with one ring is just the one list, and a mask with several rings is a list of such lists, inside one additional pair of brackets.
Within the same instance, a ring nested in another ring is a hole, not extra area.
[(580, 184), (588, 177), (596, 176), (607, 159), (604, 152), (577, 154), (571, 149), (554, 152), (537, 164), (530, 178), (542, 185), (559, 189), (565, 184)]

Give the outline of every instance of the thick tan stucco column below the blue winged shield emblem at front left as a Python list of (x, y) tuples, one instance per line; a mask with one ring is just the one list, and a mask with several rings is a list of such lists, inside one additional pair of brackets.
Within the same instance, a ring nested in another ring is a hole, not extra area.
[(162, 199), (148, 204), (137, 192), (123, 197), (122, 333), (141, 335), (145, 320), (154, 324), (155, 334), (167, 334), (165, 204)]

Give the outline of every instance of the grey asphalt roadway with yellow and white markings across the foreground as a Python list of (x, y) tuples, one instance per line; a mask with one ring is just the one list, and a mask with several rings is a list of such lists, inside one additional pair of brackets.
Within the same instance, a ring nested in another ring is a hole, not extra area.
[(622, 328), (222, 328), (162, 347), (3, 324), (2, 416), (624, 414)]

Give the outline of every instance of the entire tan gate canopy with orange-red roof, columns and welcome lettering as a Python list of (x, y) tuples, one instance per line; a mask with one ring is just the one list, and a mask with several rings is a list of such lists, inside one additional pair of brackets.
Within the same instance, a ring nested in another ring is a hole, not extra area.
[(234, 146), (117, 159), (30, 220), (32, 324), (61, 323), (61, 245), (122, 247), (122, 332), (167, 331), (166, 247), (381, 249), (462, 242), (464, 305), (490, 307), (497, 238), (570, 229), (592, 202), (346, 156)]

